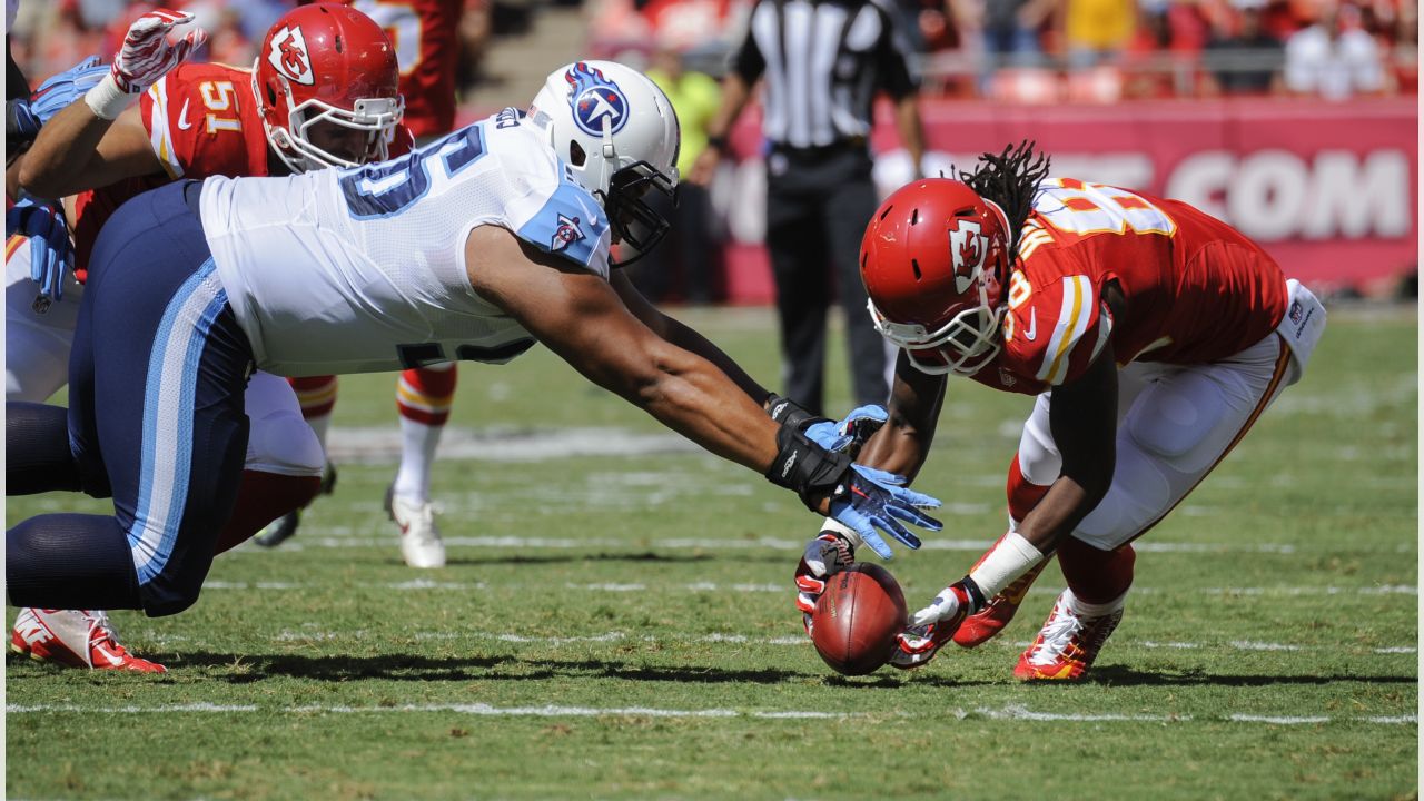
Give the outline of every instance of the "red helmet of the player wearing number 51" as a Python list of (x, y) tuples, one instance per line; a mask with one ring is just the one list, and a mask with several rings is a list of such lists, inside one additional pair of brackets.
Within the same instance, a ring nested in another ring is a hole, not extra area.
[(340, 3), (289, 11), (252, 66), (268, 143), (295, 172), (386, 158), (406, 108), (399, 81), (386, 31)]

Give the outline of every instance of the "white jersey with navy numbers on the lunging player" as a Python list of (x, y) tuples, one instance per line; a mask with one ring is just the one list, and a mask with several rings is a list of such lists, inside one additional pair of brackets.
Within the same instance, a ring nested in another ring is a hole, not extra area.
[(521, 117), (506, 108), (352, 170), (208, 178), (204, 234), (258, 369), (376, 372), (523, 353), (534, 339), (466, 274), (478, 225), (607, 279), (602, 208)]

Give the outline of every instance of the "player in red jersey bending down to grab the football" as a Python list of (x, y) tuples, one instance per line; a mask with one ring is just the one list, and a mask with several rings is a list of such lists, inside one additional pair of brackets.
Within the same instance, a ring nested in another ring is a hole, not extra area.
[[(901, 348), (863, 462), (918, 472), (950, 373), (1038, 396), (1008, 467), (1008, 532), (911, 616), (897, 667), (995, 636), (1057, 552), (1068, 589), (1014, 676), (1082, 678), (1122, 617), (1132, 540), (1300, 379), (1324, 329), (1320, 302), (1229, 225), (1047, 172), (1028, 144), (984, 154), (960, 181), (891, 194), (862, 242), (870, 314)], [(807, 546), (799, 606), (844, 562), (842, 536)]]

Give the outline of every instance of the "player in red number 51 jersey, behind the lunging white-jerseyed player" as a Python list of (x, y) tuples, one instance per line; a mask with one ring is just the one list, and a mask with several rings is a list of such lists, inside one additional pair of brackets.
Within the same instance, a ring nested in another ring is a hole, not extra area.
[[(252, 70), (182, 64), (201, 33), (177, 44), (167, 34), (191, 20), (157, 10), (135, 21), (114, 80), (105, 80), (112, 86), (101, 83), (104, 93), (91, 91), (85, 103), (54, 115), (7, 175), (31, 195), (77, 195), (70, 218), (80, 281), (104, 221), (150, 188), (178, 178), (356, 165), (409, 150), (410, 135), (399, 128), (394, 51), (359, 11), (330, 3), (290, 11), (263, 38)], [(83, 292), (74, 278), (60, 277), (50, 285), (67, 288), (68, 298), (43, 314), (31, 308), (26, 251), (33, 247), (47, 244), (16, 238), (6, 248), (9, 399), (43, 400), (63, 386)], [(63, 258), (51, 262), (63, 269)], [(53, 299), (61, 298), (56, 292)], [(255, 373), (246, 409), (246, 469), (219, 550), (309, 502), (320, 485), (325, 456), (286, 382)], [(11, 646), (78, 667), (162, 670), (127, 653), (95, 610), (21, 610)]]

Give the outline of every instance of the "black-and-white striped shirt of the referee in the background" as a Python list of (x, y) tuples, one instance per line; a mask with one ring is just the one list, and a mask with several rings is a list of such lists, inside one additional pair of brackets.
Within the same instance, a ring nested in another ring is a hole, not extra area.
[(776, 145), (826, 147), (870, 135), (871, 101), (918, 88), (909, 44), (874, 0), (758, 0), (732, 70), (762, 90), (762, 133)]

